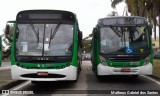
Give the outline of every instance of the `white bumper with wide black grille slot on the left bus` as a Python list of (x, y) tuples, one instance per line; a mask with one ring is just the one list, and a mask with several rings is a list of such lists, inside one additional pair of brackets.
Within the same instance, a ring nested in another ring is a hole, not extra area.
[[(47, 72), (50, 77), (37, 76), (38, 72)], [(65, 81), (76, 80), (77, 67), (70, 65), (63, 69), (24, 69), (17, 65), (11, 66), (11, 75), (14, 80), (31, 80), (31, 81)], [(54, 76), (56, 75), (56, 76)], [(61, 77), (57, 77), (61, 76)], [(63, 76), (63, 77), (62, 77)]]

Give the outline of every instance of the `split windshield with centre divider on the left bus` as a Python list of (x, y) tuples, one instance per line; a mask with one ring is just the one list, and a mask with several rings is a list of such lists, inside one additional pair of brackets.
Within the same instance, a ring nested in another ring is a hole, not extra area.
[(73, 24), (17, 24), (17, 56), (71, 56)]

